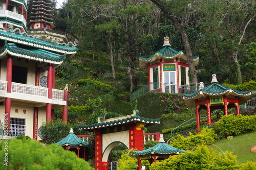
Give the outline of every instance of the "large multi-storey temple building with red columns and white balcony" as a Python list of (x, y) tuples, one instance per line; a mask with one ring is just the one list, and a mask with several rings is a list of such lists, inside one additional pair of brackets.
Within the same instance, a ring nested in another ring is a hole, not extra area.
[[(40, 140), (38, 128), (42, 122), (53, 119), (54, 109), (62, 108), (62, 120), (67, 122), (68, 87), (55, 89), (55, 68), (78, 49), (74, 44), (51, 43), (27, 34), (27, 1), (3, 1), (2, 7), (0, 120), (4, 125), (3, 137), (23, 135)], [(50, 21), (47, 27), (51, 27)]]

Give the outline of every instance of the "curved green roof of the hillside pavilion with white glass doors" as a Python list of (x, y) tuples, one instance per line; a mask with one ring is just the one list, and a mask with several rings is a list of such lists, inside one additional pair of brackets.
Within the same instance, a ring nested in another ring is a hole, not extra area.
[[(163, 59), (181, 58), (181, 59), (187, 61), (186, 55), (182, 51), (178, 52), (178, 51), (174, 50), (174, 48), (170, 47), (168, 37), (164, 37), (163, 48), (160, 51), (153, 54), (150, 58), (140, 57), (139, 58), (139, 66), (140, 66), (140, 68), (143, 69), (143, 71), (147, 72), (148, 71), (147, 70), (148, 63), (152, 63), (155, 60), (162, 59), (162, 58)], [(199, 56), (194, 57), (193, 62), (195, 64), (195, 66), (197, 66), (198, 62), (199, 62)]]

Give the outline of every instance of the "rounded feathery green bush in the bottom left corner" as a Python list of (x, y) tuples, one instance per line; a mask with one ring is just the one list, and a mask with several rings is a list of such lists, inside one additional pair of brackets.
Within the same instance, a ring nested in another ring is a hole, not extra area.
[[(8, 149), (5, 142), (8, 142)], [(32, 139), (9, 139), (0, 143), (0, 156), (8, 154), (6, 166), (0, 163), (0, 169), (88, 169), (89, 163), (77, 158), (74, 152), (64, 150), (60, 145), (51, 144), (48, 147)]]

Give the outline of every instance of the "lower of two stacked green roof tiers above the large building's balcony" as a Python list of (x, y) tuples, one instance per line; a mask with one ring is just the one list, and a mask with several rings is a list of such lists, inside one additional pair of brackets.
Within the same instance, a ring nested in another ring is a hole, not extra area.
[(4, 48), (0, 51), (0, 53), (3, 53), (6, 49), (12, 53), (56, 61), (56, 62), (64, 61), (66, 59), (66, 55), (59, 55), (56, 53), (52, 53), (52, 52), (38, 49), (31, 46), (24, 46), (24, 45), (15, 44), (15, 43), (7, 43), (7, 41), (5, 41)]

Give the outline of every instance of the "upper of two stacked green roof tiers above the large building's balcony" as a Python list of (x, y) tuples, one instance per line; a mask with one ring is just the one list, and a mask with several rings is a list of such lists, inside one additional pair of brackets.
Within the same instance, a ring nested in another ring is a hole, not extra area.
[(25, 37), (25, 36), (20, 36), (20, 35), (16, 35), (16, 34), (11, 34), (11, 33), (3, 32), (3, 31), (0, 31), (0, 36), (7, 37), (7, 38), (12, 38), (12, 39), (15, 39), (16, 41), (24, 41), (24, 42), (29, 43), (30, 46), (41, 45), (41, 46), (54, 48), (54, 49), (57, 49), (57, 50), (68, 51), (68, 52), (78, 51), (78, 49), (76, 47), (57, 45), (57, 44), (53, 44), (53, 43), (50, 43), (50, 42), (41, 41), (41, 40), (38, 40), (38, 39)]

